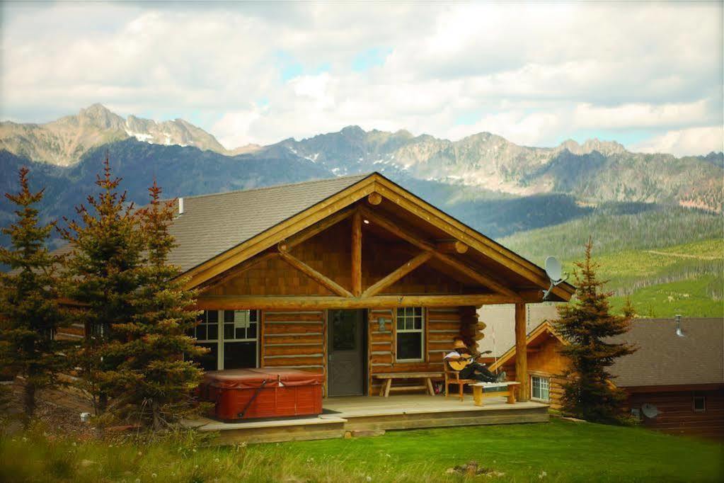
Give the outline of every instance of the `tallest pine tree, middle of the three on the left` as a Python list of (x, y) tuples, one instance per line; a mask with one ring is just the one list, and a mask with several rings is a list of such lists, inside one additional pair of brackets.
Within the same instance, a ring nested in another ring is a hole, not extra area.
[(67, 228), (62, 230), (72, 248), (64, 292), (80, 306), (75, 317), (85, 324), (86, 334), (75, 353), (75, 364), (80, 368), (80, 387), (90, 394), (100, 431), (109, 391), (115, 385), (115, 370), (122, 362), (122, 356), (109, 350), (111, 341), (119, 337), (114, 325), (130, 322), (136, 313), (134, 299), (143, 263), (140, 218), (132, 203), (127, 203), (126, 193), (119, 194), (120, 182), (111, 175), (106, 154), (103, 175), (96, 177), (100, 193), (89, 195), (88, 206), (76, 208), (80, 221), (66, 219)]

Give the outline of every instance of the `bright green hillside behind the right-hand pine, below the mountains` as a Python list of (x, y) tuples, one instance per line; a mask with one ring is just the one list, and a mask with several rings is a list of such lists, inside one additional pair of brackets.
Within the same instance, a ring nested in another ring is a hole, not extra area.
[(593, 215), (501, 241), (540, 264), (555, 254), (573, 272), (589, 234), (615, 309), (629, 297), (639, 316), (724, 316), (720, 217), (685, 209)]

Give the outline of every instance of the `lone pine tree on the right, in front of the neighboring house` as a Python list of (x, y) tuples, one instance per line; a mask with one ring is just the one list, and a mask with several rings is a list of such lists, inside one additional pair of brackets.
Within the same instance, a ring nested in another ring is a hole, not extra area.
[(576, 301), (558, 307), (557, 331), (568, 340), (561, 350), (571, 360), (571, 369), (564, 375), (565, 411), (589, 421), (614, 422), (619, 420), (620, 403), (625, 394), (611, 385), (613, 376), (607, 368), (616, 358), (633, 353), (636, 348), (627, 343), (614, 343), (610, 337), (628, 331), (633, 316), (630, 303), (623, 316), (609, 312), (608, 298), (599, 281), (599, 267), (591, 259), (592, 240), (586, 243), (583, 261), (576, 262)]

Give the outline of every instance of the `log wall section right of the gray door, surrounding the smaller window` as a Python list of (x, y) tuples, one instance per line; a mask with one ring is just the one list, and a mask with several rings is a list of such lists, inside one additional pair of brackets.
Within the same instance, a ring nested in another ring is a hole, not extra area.
[[(368, 340), (369, 340), (369, 374), (368, 387), (370, 395), (379, 394), (381, 382), (374, 378), (374, 374), (390, 372), (442, 372), (442, 357), (452, 350), (452, 337), (460, 335), (460, 310), (451, 308), (427, 308), (425, 310), (424, 331), (424, 361), (421, 362), (395, 362), (395, 332), (397, 329), (395, 309), (371, 310), (368, 314)], [(384, 332), (379, 330), (379, 318), (387, 319)], [(416, 380), (395, 381), (396, 387), (403, 385), (419, 385)]]

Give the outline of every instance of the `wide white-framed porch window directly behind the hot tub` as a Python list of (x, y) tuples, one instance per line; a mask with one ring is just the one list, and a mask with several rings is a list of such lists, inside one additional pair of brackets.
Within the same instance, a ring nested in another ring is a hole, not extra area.
[(205, 371), (257, 366), (258, 311), (203, 311), (193, 329), (196, 343), (210, 349), (198, 363)]

